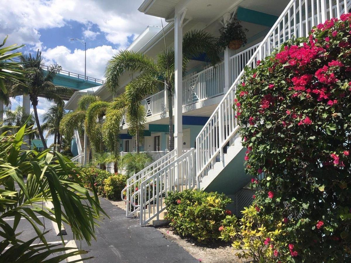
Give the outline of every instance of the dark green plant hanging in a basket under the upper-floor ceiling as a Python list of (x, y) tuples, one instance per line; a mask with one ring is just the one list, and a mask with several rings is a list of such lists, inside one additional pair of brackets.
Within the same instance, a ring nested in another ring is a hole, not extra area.
[(242, 45), (247, 43), (246, 34), (248, 32), (246, 28), (241, 25), (241, 21), (237, 18), (237, 15), (233, 16), (227, 25), (219, 29), (218, 45), (221, 48), (229, 47), (230, 49), (238, 49)]

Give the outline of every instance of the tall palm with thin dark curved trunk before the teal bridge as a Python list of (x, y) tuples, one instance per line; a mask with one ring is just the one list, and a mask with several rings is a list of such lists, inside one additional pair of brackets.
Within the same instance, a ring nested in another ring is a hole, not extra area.
[(64, 102), (62, 100), (62, 95), (71, 95), (73, 94), (73, 90), (67, 87), (55, 86), (53, 84), (54, 77), (58, 73), (60, 66), (52, 65), (46, 72), (44, 72), (44, 61), (41, 58), (41, 52), (39, 52), (39, 50), (35, 57), (32, 57), (29, 53), (29, 56), (21, 55), (20, 60), (22, 62), (22, 67), (26, 72), (26, 80), (24, 80), (24, 83), (13, 85), (11, 88), (11, 95), (29, 95), (34, 110), (39, 136), (44, 149), (47, 149), (38, 117), (38, 97), (45, 97), (49, 102), (63, 105)]

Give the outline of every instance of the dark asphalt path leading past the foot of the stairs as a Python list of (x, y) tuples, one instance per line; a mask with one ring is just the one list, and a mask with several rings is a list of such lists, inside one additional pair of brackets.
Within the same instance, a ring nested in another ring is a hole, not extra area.
[[(110, 216), (96, 229), (97, 241), (91, 247), (76, 241), (77, 247), (90, 251), (84, 256), (94, 256), (86, 262), (118, 263), (195, 263), (198, 262), (177, 243), (164, 238), (153, 227), (140, 227), (138, 219), (126, 217), (126, 212), (108, 200), (100, 198), (101, 207)], [(69, 231), (65, 239), (71, 238)]]

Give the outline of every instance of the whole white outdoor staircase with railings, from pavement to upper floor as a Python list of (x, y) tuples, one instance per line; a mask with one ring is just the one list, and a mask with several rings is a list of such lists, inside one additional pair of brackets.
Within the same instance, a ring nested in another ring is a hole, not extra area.
[[(347, 7), (345, 9), (345, 6)], [(348, 13), (351, 0), (291, 0), (259, 46), (255, 46), (246, 63), (255, 68), (258, 60), (270, 55), (285, 41), (293, 37), (308, 36), (311, 28), (331, 18)], [(225, 170), (230, 168), (230, 180), (237, 191), (249, 181), (243, 169), (243, 152), (239, 126), (236, 122), (235, 93), (241, 76), (237, 78), (214, 110), (196, 138), (197, 149), (190, 149), (182, 156), (174, 154), (169, 160), (151, 164), (127, 182), (127, 216), (139, 216), (140, 225), (157, 222), (166, 215), (164, 198), (168, 191), (183, 189), (211, 189), (215, 181), (223, 181)], [(238, 158), (241, 157), (241, 160)], [(232, 168), (233, 162), (238, 162)], [(196, 165), (196, 169), (195, 169)], [(247, 181), (245, 181), (247, 180)], [(135, 186), (138, 186), (135, 188)]]

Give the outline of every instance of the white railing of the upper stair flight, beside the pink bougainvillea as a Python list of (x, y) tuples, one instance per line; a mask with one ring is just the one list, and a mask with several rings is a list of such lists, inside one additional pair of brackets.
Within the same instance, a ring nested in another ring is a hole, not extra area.
[[(327, 5), (326, 0), (291, 0), (246, 65), (256, 67), (258, 60), (270, 55), (284, 41), (293, 36), (308, 36), (311, 28), (318, 23), (347, 13), (350, 2), (351, 0), (329, 0)], [(347, 6), (346, 11), (344, 6)], [(233, 142), (239, 129), (234, 117), (233, 101), (243, 73), (242, 70), (196, 138), (198, 187), (201, 178), (213, 167), (217, 156), (223, 160), (224, 148)]]

